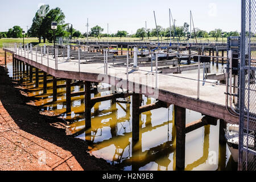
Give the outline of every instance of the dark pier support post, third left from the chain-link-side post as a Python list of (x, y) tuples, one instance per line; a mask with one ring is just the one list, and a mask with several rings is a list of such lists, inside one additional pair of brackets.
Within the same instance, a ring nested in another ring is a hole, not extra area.
[(85, 128), (86, 129), (90, 129), (92, 127), (92, 123), (91, 123), (91, 110), (92, 110), (92, 104), (90, 101), (90, 81), (85, 81), (84, 84), (84, 91), (85, 91), (85, 95), (84, 95), (84, 102), (85, 102)]

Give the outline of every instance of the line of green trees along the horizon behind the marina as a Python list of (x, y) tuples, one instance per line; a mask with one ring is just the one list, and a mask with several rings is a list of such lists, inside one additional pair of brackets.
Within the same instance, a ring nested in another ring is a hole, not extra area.
[[(239, 36), (240, 33), (237, 31), (231, 32), (223, 32), (221, 29), (215, 29), (213, 31), (207, 32), (204, 30), (200, 30), (199, 28), (195, 28), (195, 31), (189, 32), (189, 24), (184, 23), (183, 26), (172, 26), (170, 28), (163, 28), (162, 26), (157, 26), (156, 28), (147, 29), (139, 28), (137, 32), (133, 35), (129, 35), (129, 33), (125, 30), (119, 30), (115, 34), (103, 34), (104, 28), (100, 26), (95, 26), (90, 28), (90, 31), (85, 34), (82, 34), (79, 30), (73, 28), (73, 25), (69, 26), (69, 23), (65, 23), (65, 15), (63, 11), (59, 7), (55, 9), (50, 9), (49, 5), (43, 5), (36, 12), (34, 18), (32, 19), (32, 26), (28, 30), (27, 34), (24, 36), (28, 37), (36, 37), (39, 39), (39, 43), (46, 43), (46, 40), (52, 42), (53, 40), (53, 30), (51, 29), (51, 23), (57, 23), (56, 37), (69, 37), (69, 38), (85, 38), (86, 36), (102, 38), (102, 37), (126, 37), (130, 36), (133, 38), (144, 38), (149, 39), (150, 37), (165, 37), (172, 39), (189, 39), (189, 38), (214, 38), (218, 40), (218, 38), (228, 36)], [(22, 28), (19, 26), (14, 26), (10, 28), (8, 32), (0, 32), (0, 38), (22, 38)]]

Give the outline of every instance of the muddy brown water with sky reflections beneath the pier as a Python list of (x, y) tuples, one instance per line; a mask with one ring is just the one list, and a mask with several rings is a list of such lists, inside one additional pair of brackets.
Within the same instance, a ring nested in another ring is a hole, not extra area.
[[(9, 76), (15, 77), (19, 71), (13, 70), (12, 63), (8, 64)], [(211, 68), (212, 71), (220, 72)], [(190, 73), (193, 73), (191, 71)], [(196, 71), (195, 71), (196, 72)], [(40, 73), (39, 75), (42, 75)], [(92, 108), (92, 129), (84, 131), (84, 96), (72, 97), (71, 113), (65, 113), (65, 88), (57, 89), (57, 101), (52, 102), (52, 82), (47, 84), (47, 94), (43, 94), (43, 78), (39, 78), (39, 88), (28, 83), (28, 77), (23, 75), (24, 84), (28, 89), (29, 97), (35, 97), (35, 104), (44, 111), (54, 111), (64, 119), (71, 122), (69, 130), (79, 133), (77, 138), (90, 143), (89, 153), (97, 158), (103, 158), (120, 169), (130, 171), (173, 171), (176, 160), (176, 127), (174, 126), (174, 106), (168, 109), (156, 109), (142, 113), (141, 133), (138, 143), (132, 142), (131, 129), (132, 105), (131, 97), (118, 99), (127, 101), (128, 104), (104, 101)], [(48, 77), (51, 78), (51, 77)], [(34, 78), (35, 80), (35, 78)], [(58, 85), (65, 81), (58, 81)], [(107, 88), (109, 85), (102, 84)], [(83, 91), (84, 86), (72, 86), (72, 92)], [(92, 97), (110, 94), (100, 92)], [(142, 105), (154, 103), (154, 98), (143, 96)], [(202, 115), (192, 110), (187, 110), (186, 122), (190, 123), (201, 119)], [(219, 122), (217, 126), (205, 126), (186, 135), (185, 143), (185, 170), (191, 171), (216, 171), (237, 170), (227, 145), (221, 145), (219, 138)], [(81, 151), (82, 155), (82, 151)]]

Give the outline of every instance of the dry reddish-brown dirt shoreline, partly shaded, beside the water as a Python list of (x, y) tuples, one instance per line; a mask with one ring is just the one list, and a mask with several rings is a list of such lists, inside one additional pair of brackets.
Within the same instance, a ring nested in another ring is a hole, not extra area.
[(2, 63), (1, 57), (1, 171), (117, 170), (104, 159), (90, 156), (86, 142), (68, 136), (63, 119), (40, 113), (40, 107), (34, 106), (32, 98), (11, 80)]

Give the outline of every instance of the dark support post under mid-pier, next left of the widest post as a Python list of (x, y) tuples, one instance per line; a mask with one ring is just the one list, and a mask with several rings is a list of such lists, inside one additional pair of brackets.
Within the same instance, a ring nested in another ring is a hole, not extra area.
[(133, 141), (139, 140), (139, 94), (133, 94)]

